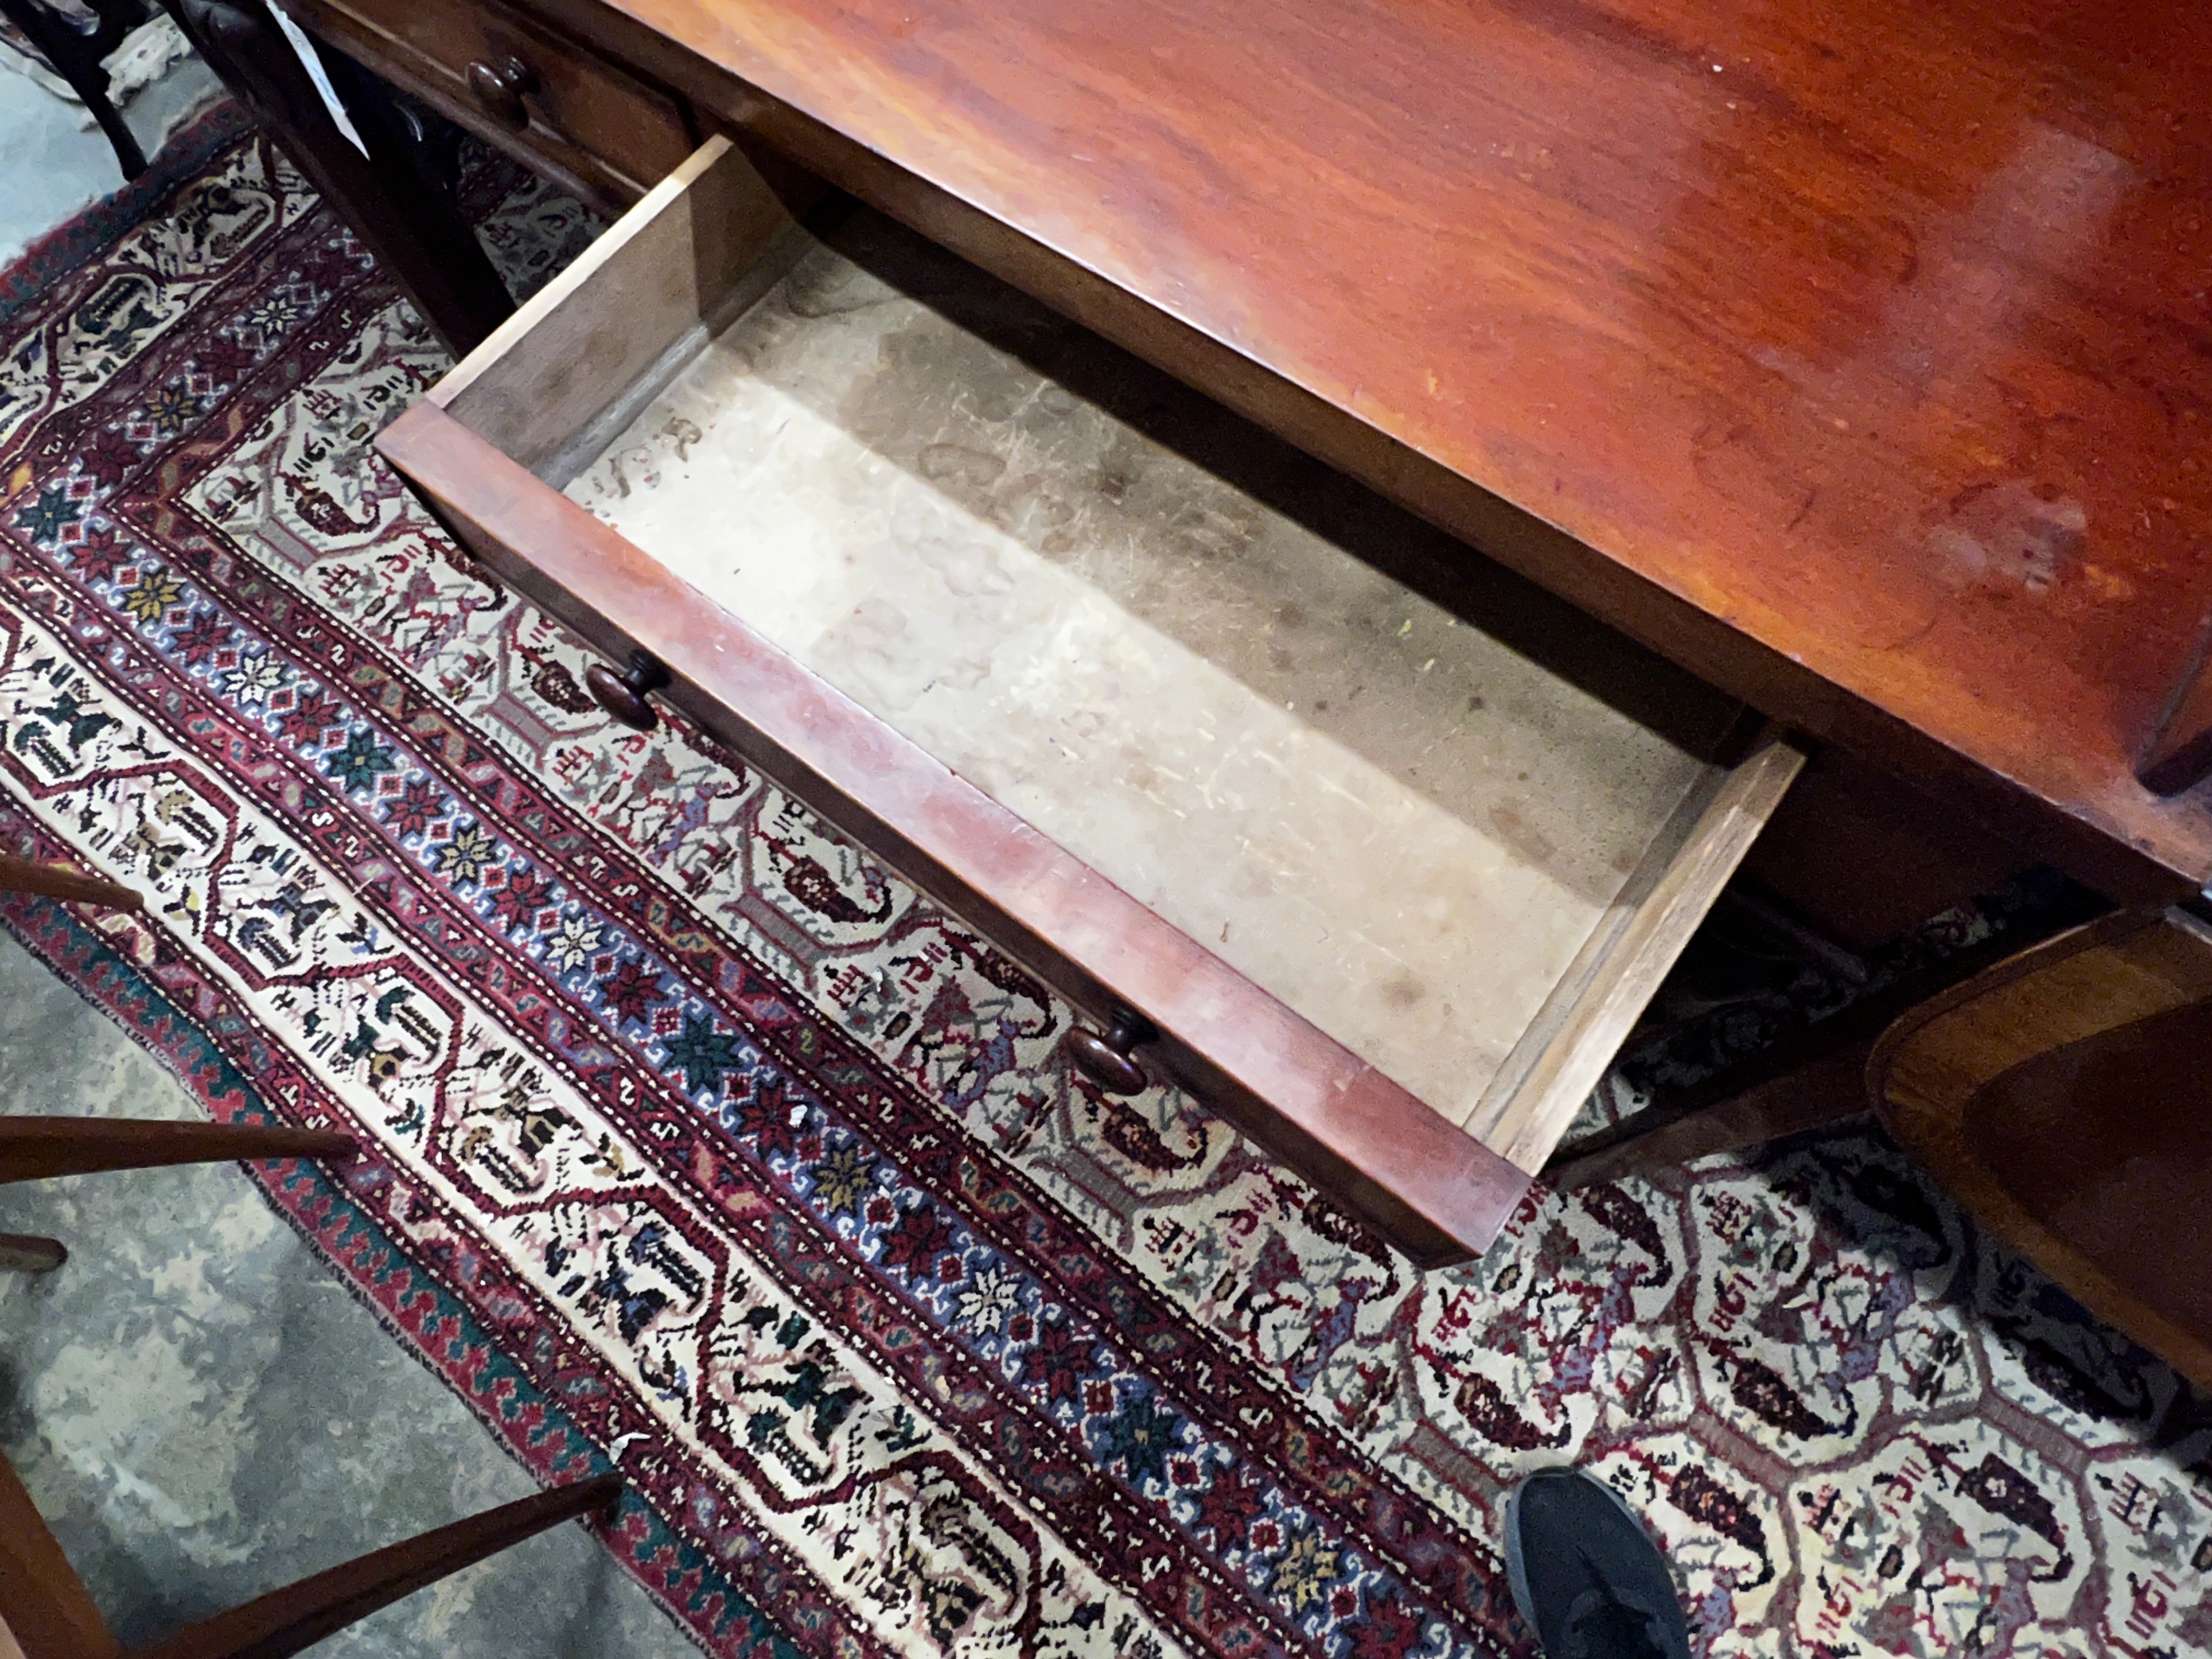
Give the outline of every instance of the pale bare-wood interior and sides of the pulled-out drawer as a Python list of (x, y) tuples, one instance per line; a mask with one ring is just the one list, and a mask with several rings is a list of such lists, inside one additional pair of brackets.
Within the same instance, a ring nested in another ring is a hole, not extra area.
[(721, 142), (436, 398), (1522, 1168), (1794, 772), (914, 232), (801, 230)]

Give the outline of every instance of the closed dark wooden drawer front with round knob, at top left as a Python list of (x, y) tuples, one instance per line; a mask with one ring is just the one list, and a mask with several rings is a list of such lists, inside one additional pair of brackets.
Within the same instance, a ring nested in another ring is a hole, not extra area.
[(310, 0), (301, 11), (341, 49), (602, 208), (628, 206), (692, 150), (672, 97), (484, 0)]

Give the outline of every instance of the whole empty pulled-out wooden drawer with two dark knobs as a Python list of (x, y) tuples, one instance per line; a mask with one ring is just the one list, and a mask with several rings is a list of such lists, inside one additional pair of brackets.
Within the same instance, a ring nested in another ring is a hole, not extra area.
[(712, 139), (378, 447), (624, 666), (608, 712), (681, 706), (1091, 1011), (1091, 1086), (1175, 1075), (1480, 1252), (1801, 752), (1705, 759), (1542, 646), (1717, 732), (1710, 688), (1511, 577), (1540, 626), (1453, 615), (1347, 549), (1431, 535), (1349, 480), (867, 210), (825, 234)]

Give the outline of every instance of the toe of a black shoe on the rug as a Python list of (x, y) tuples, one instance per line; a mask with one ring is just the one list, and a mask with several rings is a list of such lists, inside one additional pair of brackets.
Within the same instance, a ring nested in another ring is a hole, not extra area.
[(1544, 1659), (1690, 1659), (1666, 1557), (1595, 1475), (1540, 1469), (1513, 1489), (1506, 1579)]

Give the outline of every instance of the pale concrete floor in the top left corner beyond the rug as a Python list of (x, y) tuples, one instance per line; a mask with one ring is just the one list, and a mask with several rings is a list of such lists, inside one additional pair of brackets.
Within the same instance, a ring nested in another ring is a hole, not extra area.
[[(186, 58), (124, 104), (124, 124), (150, 159), (164, 137), (219, 95), (215, 71), (199, 58)], [(0, 73), (0, 265), (122, 188), (124, 175), (106, 133), (80, 128), (80, 108), (29, 75)]]

